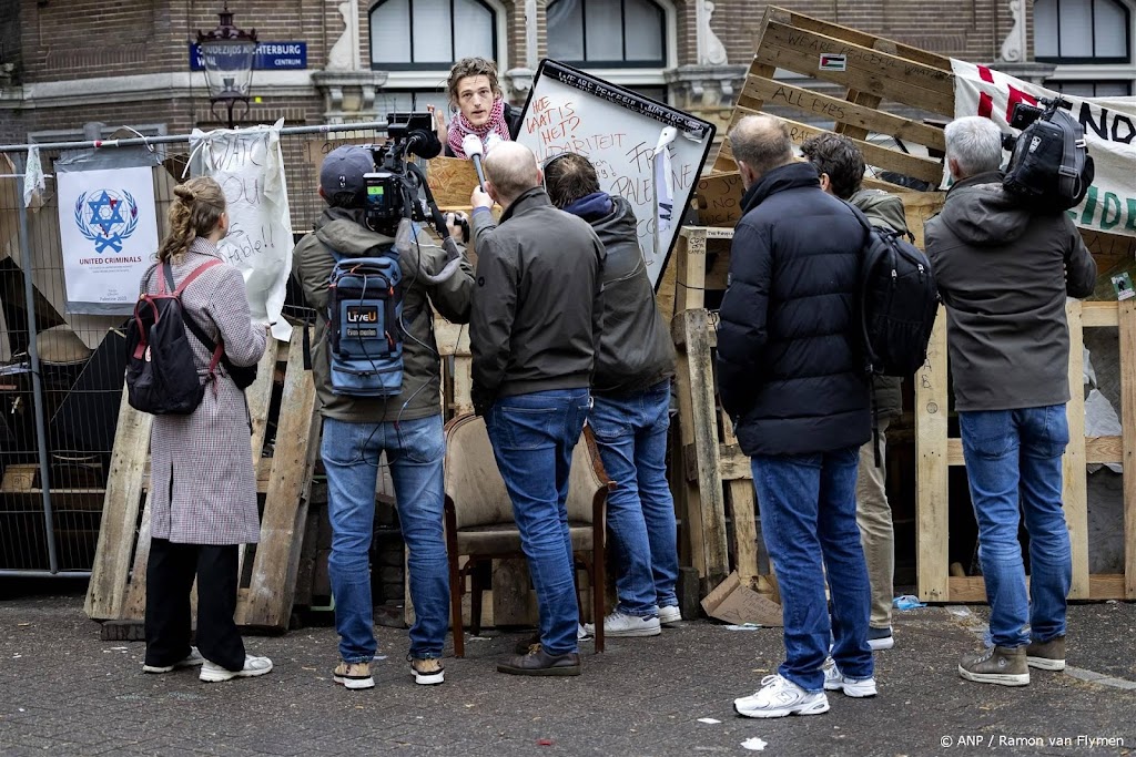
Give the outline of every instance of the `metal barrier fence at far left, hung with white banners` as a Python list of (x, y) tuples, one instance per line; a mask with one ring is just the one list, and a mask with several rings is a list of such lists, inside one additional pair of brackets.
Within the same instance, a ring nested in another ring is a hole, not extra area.
[[(319, 166), (337, 144), (381, 141), (386, 125), (284, 128), (281, 148), (296, 238), (324, 207)], [(37, 145), (48, 176), (25, 208), (28, 145), (0, 145), (0, 577), (90, 575), (126, 365), (125, 317), (68, 313), (52, 183), (57, 160), (97, 150), (150, 150), (159, 238), (190, 136)], [(161, 180), (159, 180), (161, 178)], [(289, 288), (286, 316), (306, 304)], [(141, 513), (141, 511), (140, 511)]]

